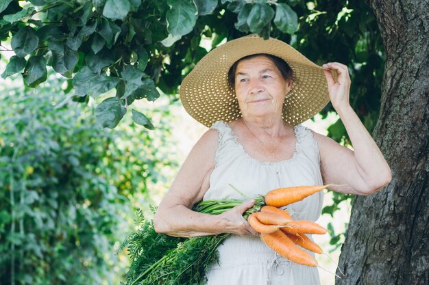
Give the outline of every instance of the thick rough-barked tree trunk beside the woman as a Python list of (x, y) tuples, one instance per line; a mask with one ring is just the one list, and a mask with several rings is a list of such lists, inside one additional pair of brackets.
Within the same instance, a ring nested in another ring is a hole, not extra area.
[(429, 2), (367, 3), (386, 51), (373, 137), (393, 179), (382, 191), (354, 200), (339, 262), (345, 277), (336, 284), (428, 285)]

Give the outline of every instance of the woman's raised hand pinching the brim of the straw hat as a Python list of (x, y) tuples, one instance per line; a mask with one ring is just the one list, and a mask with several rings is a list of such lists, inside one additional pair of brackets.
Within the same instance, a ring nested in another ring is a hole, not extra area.
[(329, 97), (335, 111), (340, 111), (350, 107), (350, 75), (347, 66), (339, 62), (328, 62), (323, 64), (323, 68), (336, 70), (338, 77), (336, 82), (332, 73), (329, 70), (323, 70), (325, 73), (326, 81), (328, 81)]

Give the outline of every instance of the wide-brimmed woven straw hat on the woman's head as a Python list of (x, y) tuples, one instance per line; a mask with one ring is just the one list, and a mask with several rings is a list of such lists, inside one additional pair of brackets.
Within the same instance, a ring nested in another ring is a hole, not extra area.
[[(235, 91), (228, 84), (228, 70), (238, 59), (257, 53), (280, 57), (293, 70), (292, 90), (284, 99), (284, 122), (295, 126), (328, 104), (328, 83), (321, 66), (280, 40), (249, 35), (217, 46), (185, 77), (180, 99), (189, 115), (208, 127), (218, 120), (230, 122), (240, 118)], [(332, 74), (336, 80), (336, 72)]]

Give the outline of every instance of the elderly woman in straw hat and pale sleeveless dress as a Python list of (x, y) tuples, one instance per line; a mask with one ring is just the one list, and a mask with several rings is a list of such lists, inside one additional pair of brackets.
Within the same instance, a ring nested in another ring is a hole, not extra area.
[[(335, 184), (333, 191), (369, 195), (391, 180), (389, 165), (350, 107), (347, 66), (323, 68), (288, 44), (246, 36), (214, 49), (182, 83), (188, 113), (211, 128), (188, 154), (154, 217), (171, 236), (231, 233), (218, 247), (209, 285), (319, 284), (317, 268), (289, 262), (262, 243), (242, 214), (254, 201), (221, 215), (191, 210), (207, 199), (243, 199), (271, 189)], [(329, 102), (354, 151), (300, 125)], [(289, 205), (295, 219), (316, 221), (323, 193)]]

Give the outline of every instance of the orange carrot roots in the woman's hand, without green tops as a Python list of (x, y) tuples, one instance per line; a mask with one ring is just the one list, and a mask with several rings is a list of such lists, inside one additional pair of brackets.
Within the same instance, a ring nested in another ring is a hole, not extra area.
[(292, 262), (316, 267), (315, 258), (302, 248), (317, 254), (321, 254), (322, 250), (306, 234), (325, 234), (327, 230), (312, 221), (294, 221), (288, 211), (278, 207), (303, 200), (327, 187), (329, 185), (299, 186), (270, 191), (265, 196), (266, 205), (249, 215), (247, 221), (260, 232), (260, 239), (275, 252)]

